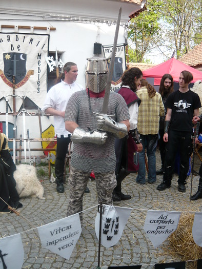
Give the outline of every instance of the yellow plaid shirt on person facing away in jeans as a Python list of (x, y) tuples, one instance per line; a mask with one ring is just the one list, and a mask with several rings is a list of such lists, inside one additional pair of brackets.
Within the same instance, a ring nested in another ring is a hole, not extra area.
[(159, 117), (164, 116), (164, 104), (161, 95), (149, 98), (146, 87), (137, 91), (137, 96), (142, 101), (139, 106), (137, 130), (140, 134), (157, 134), (159, 130)]

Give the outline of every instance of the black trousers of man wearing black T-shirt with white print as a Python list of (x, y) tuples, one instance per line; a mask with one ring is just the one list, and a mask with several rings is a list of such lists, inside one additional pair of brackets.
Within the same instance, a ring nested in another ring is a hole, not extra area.
[(189, 158), (192, 153), (192, 132), (179, 132), (169, 130), (168, 142), (166, 144), (165, 173), (164, 182), (171, 184), (172, 171), (176, 153), (180, 153), (180, 166), (178, 183), (186, 183), (187, 173), (189, 171)]

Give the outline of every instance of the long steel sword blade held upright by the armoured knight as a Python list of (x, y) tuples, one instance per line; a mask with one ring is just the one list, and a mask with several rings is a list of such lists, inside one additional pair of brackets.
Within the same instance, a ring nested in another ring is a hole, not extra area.
[(109, 73), (108, 73), (108, 77), (107, 77), (107, 86), (106, 86), (105, 97), (104, 97), (104, 101), (103, 101), (103, 110), (102, 110), (103, 114), (107, 114), (107, 111), (108, 111), (109, 94), (110, 94), (111, 81), (112, 81), (112, 76), (113, 76), (114, 60), (115, 60), (115, 54), (116, 54), (116, 45), (117, 45), (118, 31), (119, 31), (119, 26), (120, 26), (120, 16), (121, 15), (122, 15), (122, 8), (120, 7), (119, 13), (118, 13), (117, 24), (116, 24), (115, 36), (114, 36), (114, 44), (113, 44), (113, 49), (112, 49), (112, 56), (111, 56), (111, 61), (110, 61)]

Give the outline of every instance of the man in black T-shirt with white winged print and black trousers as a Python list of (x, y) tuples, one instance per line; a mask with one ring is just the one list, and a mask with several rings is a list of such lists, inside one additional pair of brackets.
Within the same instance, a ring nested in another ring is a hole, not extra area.
[(158, 191), (164, 191), (171, 186), (173, 165), (176, 153), (180, 152), (180, 167), (178, 191), (186, 192), (189, 158), (192, 153), (193, 116), (199, 115), (201, 107), (198, 94), (189, 90), (189, 83), (193, 75), (189, 71), (182, 71), (179, 75), (179, 90), (171, 93), (166, 100), (167, 114), (165, 118), (164, 141), (166, 145), (166, 159), (164, 179), (158, 185)]

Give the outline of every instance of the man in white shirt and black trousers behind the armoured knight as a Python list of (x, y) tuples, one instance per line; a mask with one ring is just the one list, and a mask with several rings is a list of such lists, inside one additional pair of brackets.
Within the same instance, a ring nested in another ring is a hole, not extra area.
[(54, 116), (54, 129), (57, 137), (55, 177), (58, 193), (64, 192), (64, 165), (71, 136), (71, 133), (65, 129), (65, 109), (71, 95), (83, 90), (83, 87), (75, 82), (77, 75), (76, 64), (71, 61), (66, 63), (63, 73), (56, 79), (56, 85), (48, 91), (42, 108), (42, 111)]

